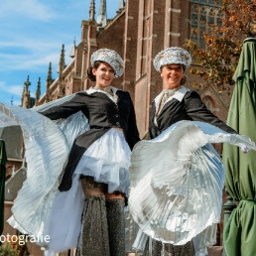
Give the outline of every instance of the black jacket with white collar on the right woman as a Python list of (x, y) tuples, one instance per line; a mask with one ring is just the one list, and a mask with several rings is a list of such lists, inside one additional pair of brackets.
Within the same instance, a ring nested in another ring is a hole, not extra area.
[(160, 135), (171, 125), (182, 120), (201, 121), (212, 124), (226, 132), (236, 133), (231, 127), (219, 120), (212, 114), (200, 99), (196, 91), (182, 87), (178, 92), (179, 97), (174, 97), (168, 101), (157, 117), (155, 124), (155, 115), (158, 106), (153, 101), (149, 120), (149, 136), (151, 139)]

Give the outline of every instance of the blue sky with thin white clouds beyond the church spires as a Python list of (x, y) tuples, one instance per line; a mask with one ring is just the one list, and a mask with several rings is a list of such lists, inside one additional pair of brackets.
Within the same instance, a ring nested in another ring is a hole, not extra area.
[[(107, 0), (107, 18), (116, 15), (120, 0)], [(95, 19), (100, 0), (95, 0)], [(49, 64), (58, 77), (62, 45), (65, 64), (80, 25), (89, 18), (90, 0), (0, 0), (0, 102), (21, 104), (24, 81), (30, 76), (35, 96), (39, 76), (45, 92)]]

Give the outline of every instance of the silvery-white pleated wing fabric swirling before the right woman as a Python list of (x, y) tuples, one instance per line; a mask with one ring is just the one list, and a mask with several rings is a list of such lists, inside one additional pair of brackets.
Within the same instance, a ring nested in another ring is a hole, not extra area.
[(135, 249), (143, 247), (145, 234), (174, 245), (200, 235), (200, 246), (214, 244), (224, 169), (210, 143), (242, 144), (256, 150), (245, 136), (195, 121), (178, 122), (157, 138), (135, 146), (129, 209), (143, 231)]

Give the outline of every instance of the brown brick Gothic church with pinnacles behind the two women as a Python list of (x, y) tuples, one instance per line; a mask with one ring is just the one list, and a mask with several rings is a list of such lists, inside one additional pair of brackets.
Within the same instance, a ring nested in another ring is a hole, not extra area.
[[(81, 21), (80, 42), (70, 51), (72, 61), (64, 64), (64, 45), (61, 51), (59, 77), (52, 78), (52, 64), (49, 64), (46, 92), (40, 95), (41, 81), (35, 105), (56, 100), (65, 95), (84, 90), (93, 85), (86, 75), (91, 54), (100, 48), (115, 50), (125, 61), (125, 73), (113, 80), (113, 86), (128, 90), (135, 105), (140, 137), (147, 136), (149, 110), (153, 98), (162, 90), (159, 72), (153, 67), (154, 57), (168, 47), (184, 47), (191, 38), (191, 30), (202, 32), (200, 19), (217, 22), (218, 6), (214, 0), (120, 0), (117, 15), (106, 19), (106, 4), (111, 0), (101, 0), (100, 6), (90, 1), (89, 20)], [(95, 17), (95, 8), (99, 8)], [(198, 16), (198, 10), (200, 17)], [(215, 10), (215, 15), (212, 15)], [(97, 19), (96, 19), (97, 18)], [(205, 23), (206, 24), (206, 23)], [(205, 25), (206, 26), (206, 25)], [(200, 47), (202, 35), (192, 38)], [(192, 65), (196, 65), (192, 63)], [(192, 88), (194, 77), (187, 71), (186, 86)], [(22, 106), (31, 107), (29, 80), (25, 82)], [(197, 89), (206, 106), (221, 120), (226, 120), (230, 95), (217, 91), (214, 87)], [(221, 145), (216, 145), (221, 153)], [(220, 225), (220, 233), (222, 225)], [(219, 237), (221, 244), (221, 237)]]

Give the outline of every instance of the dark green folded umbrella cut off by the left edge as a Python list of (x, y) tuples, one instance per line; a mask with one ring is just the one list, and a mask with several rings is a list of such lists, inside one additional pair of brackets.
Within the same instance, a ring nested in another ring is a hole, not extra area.
[(0, 234), (2, 234), (4, 230), (4, 189), (5, 189), (5, 172), (6, 172), (6, 165), (7, 156), (5, 150), (5, 143), (3, 140), (0, 139)]

